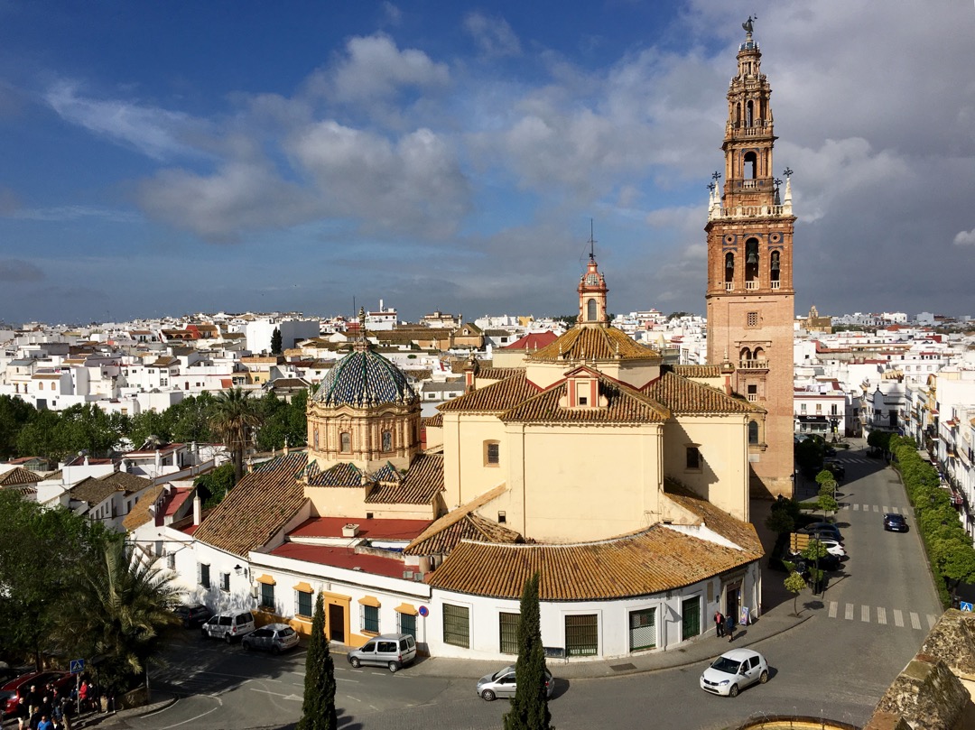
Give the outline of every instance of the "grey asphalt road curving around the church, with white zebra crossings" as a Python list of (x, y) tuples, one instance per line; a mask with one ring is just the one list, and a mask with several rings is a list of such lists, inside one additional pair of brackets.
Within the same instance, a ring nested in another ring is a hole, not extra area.
[[(837, 516), (850, 557), (824, 596), (800, 596), (811, 619), (756, 646), (772, 677), (735, 699), (698, 687), (704, 666), (601, 679), (560, 679), (550, 704), (559, 730), (593, 727), (719, 730), (748, 717), (795, 713), (863, 724), (883, 691), (917, 652), (941, 609), (907, 497), (893, 471), (862, 449), (846, 465)], [(883, 512), (907, 514), (912, 530), (884, 532)], [(756, 517), (756, 519), (762, 519)], [(766, 571), (769, 603), (792, 603), (784, 575)], [(154, 686), (176, 692), (172, 706), (142, 717), (107, 718), (133, 730), (290, 727), (301, 709), (304, 651), (273, 657), (188, 632)], [(409, 668), (353, 670), (335, 655), (336, 706), (343, 730), (495, 730), (508, 703), (474, 693), (474, 674), (433, 677)], [(558, 668), (552, 667), (558, 677)]]

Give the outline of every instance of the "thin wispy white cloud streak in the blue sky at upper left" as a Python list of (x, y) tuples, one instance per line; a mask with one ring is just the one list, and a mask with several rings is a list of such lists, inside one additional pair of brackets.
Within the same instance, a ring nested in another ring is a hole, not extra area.
[(65, 121), (130, 144), (156, 160), (191, 151), (180, 139), (190, 122), (181, 112), (121, 99), (87, 98), (69, 81), (52, 86), (45, 100)]

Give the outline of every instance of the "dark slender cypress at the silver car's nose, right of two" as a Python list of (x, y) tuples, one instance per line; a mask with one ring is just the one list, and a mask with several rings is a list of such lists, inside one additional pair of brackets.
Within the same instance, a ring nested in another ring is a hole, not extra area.
[(504, 716), (504, 730), (551, 730), (545, 687), (545, 647), (542, 646), (538, 612), (538, 573), (525, 582), (522, 613), (518, 621), (518, 686), (511, 710)]

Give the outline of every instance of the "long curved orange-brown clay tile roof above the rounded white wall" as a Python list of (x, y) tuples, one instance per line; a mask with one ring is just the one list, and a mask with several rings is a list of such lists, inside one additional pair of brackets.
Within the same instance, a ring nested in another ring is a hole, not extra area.
[(632, 535), (574, 545), (464, 541), (427, 582), (444, 591), (517, 598), (526, 579), (538, 571), (542, 600), (601, 600), (679, 589), (755, 559), (751, 552), (657, 524)]

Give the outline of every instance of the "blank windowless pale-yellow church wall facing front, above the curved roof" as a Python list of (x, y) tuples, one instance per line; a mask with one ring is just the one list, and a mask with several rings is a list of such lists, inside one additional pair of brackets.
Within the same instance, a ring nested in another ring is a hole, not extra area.
[(509, 473), (508, 526), (539, 541), (575, 542), (658, 521), (661, 438), (659, 424), (513, 424), (510, 450), (522, 468)]

